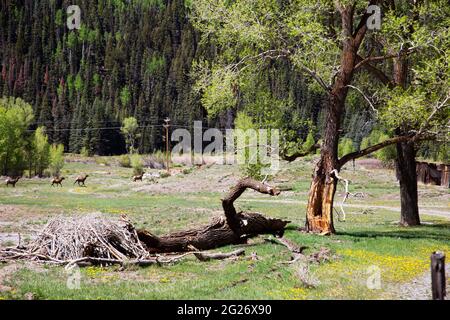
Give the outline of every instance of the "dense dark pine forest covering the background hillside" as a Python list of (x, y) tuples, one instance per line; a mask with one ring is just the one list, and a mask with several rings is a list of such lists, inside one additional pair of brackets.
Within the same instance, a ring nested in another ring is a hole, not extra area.
[[(71, 4), (81, 8), (79, 30), (66, 25)], [(30, 103), (33, 128), (45, 126), (50, 142), (69, 152), (125, 152), (120, 125), (127, 116), (138, 120), (141, 153), (163, 146), (167, 116), (175, 127), (191, 128), (194, 120), (231, 127), (236, 112), (208, 117), (192, 90), (193, 62), (214, 55), (213, 45), (200, 43), (182, 0), (1, 2), (0, 93)], [(300, 139), (313, 128), (319, 132), (322, 97), (307, 90), (289, 63), (276, 64), (261, 70), (258, 86), (288, 106), (284, 129)], [(238, 94), (237, 109), (260, 101)], [(347, 118), (349, 128), (361, 128), (368, 116)], [(359, 130), (356, 140), (370, 129)]]

